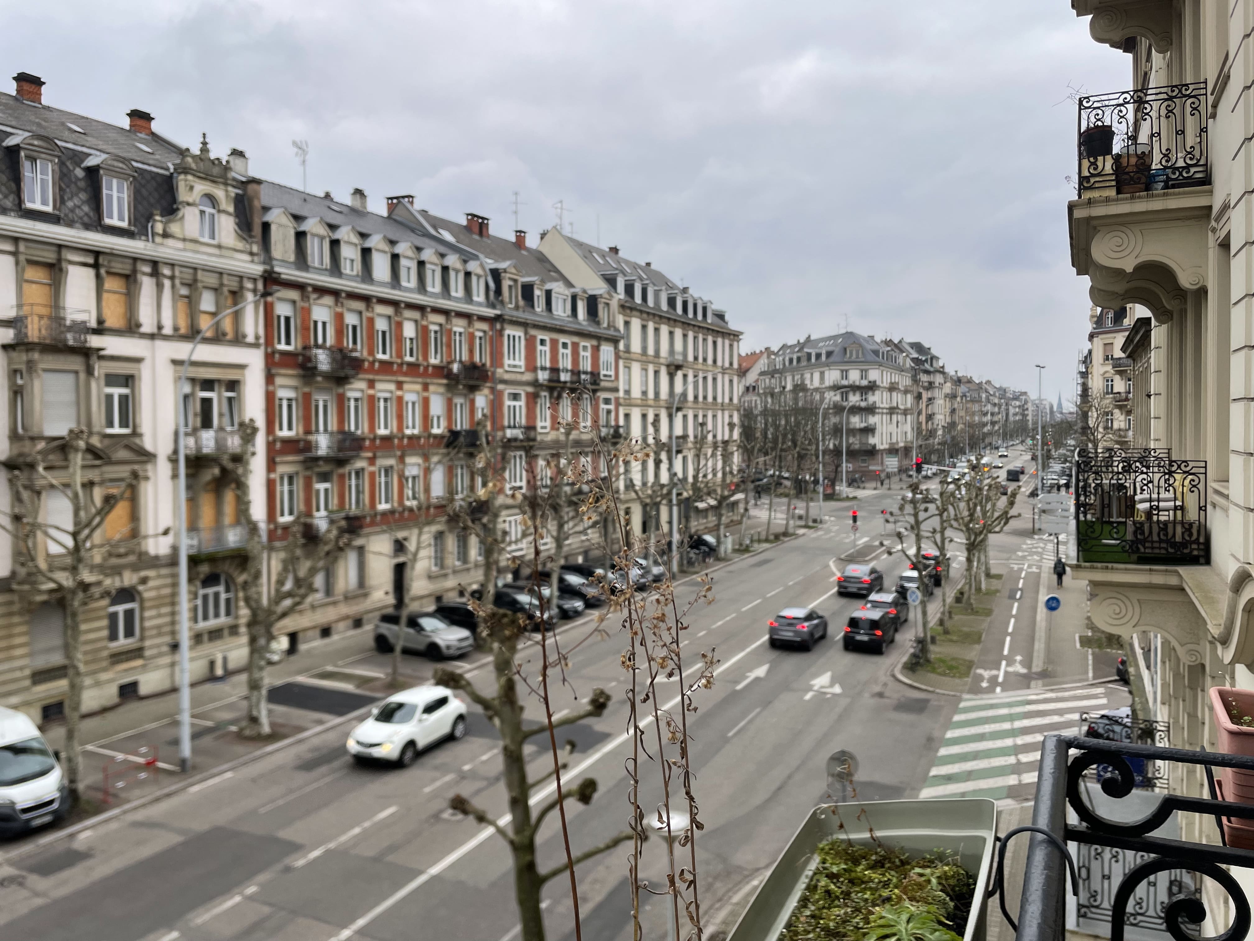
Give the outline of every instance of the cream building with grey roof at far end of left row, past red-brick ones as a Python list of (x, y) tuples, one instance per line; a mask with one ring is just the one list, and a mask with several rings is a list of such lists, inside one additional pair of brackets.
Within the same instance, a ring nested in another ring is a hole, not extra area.
[[(553, 228), (539, 243), (574, 285), (603, 291), (622, 332), (618, 389), (622, 433), (663, 447), (660, 472), (652, 462), (627, 468), (637, 487), (621, 484), (626, 512), (638, 533), (670, 532), (668, 499), (651, 519), (643, 488), (677, 477), (677, 529), (702, 531), (716, 522), (719, 494), (730, 492), (739, 467), (740, 331), (725, 311), (617, 247), (599, 248)], [(670, 465), (675, 444), (676, 465)], [(657, 474), (660, 479), (652, 479)], [(729, 491), (724, 491), (724, 481)], [(724, 522), (742, 512), (742, 494), (722, 501)]]

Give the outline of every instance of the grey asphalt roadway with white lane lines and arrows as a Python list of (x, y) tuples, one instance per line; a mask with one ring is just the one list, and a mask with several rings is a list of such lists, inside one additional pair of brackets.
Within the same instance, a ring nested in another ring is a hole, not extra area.
[[(888, 676), (904, 636), (888, 656), (841, 649), (840, 626), (860, 602), (834, 593), (833, 560), (855, 540), (846, 522), (850, 504), (839, 506), (839, 522), (717, 572), (716, 601), (690, 619), (690, 661), (710, 647), (720, 660), (719, 680), (700, 694), (690, 725), (706, 824), (697, 846), (710, 928), (732, 917), (806, 811), (825, 799), (824, 767), (833, 750), (858, 755), (860, 797), (910, 795), (957, 705)], [(868, 519), (893, 506), (895, 494), (884, 492), (859, 509)], [(879, 526), (864, 524), (858, 538), (878, 538), (870, 528)], [(892, 582), (904, 561), (894, 556), (877, 565)], [(683, 597), (683, 586), (677, 593)], [(831, 636), (810, 652), (770, 649), (765, 622), (789, 605), (826, 614)], [(566, 627), (568, 642), (581, 630), (586, 626)], [(614, 696), (602, 719), (563, 730), (578, 743), (568, 780), (587, 774), (599, 783), (591, 805), (572, 804), (576, 852), (623, 829), (628, 817), (623, 646), (611, 629), (572, 657), (578, 695), (599, 685)], [(463, 669), (485, 684), (479, 659)], [(677, 693), (677, 683), (668, 686), (675, 691), (663, 684), (663, 699)], [(569, 690), (558, 693), (556, 709), (576, 705)], [(351, 764), (344, 752), (350, 728), (0, 867), (0, 941), (515, 937), (505, 847), (492, 831), (448, 811), (449, 798), (463, 793), (494, 814), (505, 812), (492, 726), (472, 708), (465, 739), (431, 749), (404, 770)], [(534, 740), (533, 775), (548, 762), (542, 740)], [(652, 807), (660, 793), (655, 770), (646, 772), (642, 790), (642, 803)], [(542, 868), (562, 858), (556, 816), (544, 837)], [(655, 887), (663, 885), (663, 852), (662, 841), (645, 851), (642, 875)], [(587, 938), (631, 936), (624, 857), (619, 847), (579, 869)], [(554, 880), (545, 898), (549, 937), (573, 937), (568, 883)], [(655, 901), (645, 913), (650, 937), (665, 935), (662, 908)]]

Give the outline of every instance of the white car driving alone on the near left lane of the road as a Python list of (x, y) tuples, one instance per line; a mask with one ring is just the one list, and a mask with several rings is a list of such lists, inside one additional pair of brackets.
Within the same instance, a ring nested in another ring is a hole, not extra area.
[(414, 686), (370, 710), (346, 743), (359, 764), (393, 762), (406, 768), (418, 753), (466, 734), (466, 704), (445, 686)]

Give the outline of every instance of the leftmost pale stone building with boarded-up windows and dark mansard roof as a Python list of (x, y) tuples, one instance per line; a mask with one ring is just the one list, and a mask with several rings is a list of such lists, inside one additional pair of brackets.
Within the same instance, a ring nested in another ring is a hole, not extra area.
[[(0, 94), (9, 153), (0, 166), (4, 463), (43, 491), (41, 519), (63, 528), (73, 521), (69, 499), (36, 465), (65, 483), (69, 429), (88, 432), (93, 499), (139, 473), (130, 498), (92, 538), (100, 591), (82, 611), (82, 650), (83, 709), (94, 711), (174, 685), (176, 512), (189, 527), (192, 678), (245, 664), (219, 556), (242, 527), (232, 494), (217, 493), (214, 462), (240, 452), (242, 422), (265, 420), (261, 304), (223, 320), (196, 351), (183, 408), (197, 423), (182, 496), (177, 386), (192, 339), (255, 297), (263, 270), (246, 223), (241, 152), (219, 159), (203, 138), (197, 151), (183, 148), (139, 109), (124, 125), (61, 110), (44, 102), (38, 77), (19, 73), (15, 82), (16, 94)], [(263, 493), (260, 462), (253, 481)], [(0, 512), (11, 508), (5, 479)], [(263, 498), (257, 508), (265, 512)], [(45, 542), (40, 552), (64, 555)], [(56, 719), (68, 669), (61, 602), (18, 565), (9, 538), (0, 540), (0, 704)]]

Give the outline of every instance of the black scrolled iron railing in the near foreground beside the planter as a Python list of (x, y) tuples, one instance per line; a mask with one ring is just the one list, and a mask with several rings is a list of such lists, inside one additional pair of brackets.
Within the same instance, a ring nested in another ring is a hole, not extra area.
[[(1070, 750), (1078, 754), (1070, 758)], [(1169, 763), (1201, 765), (1210, 798), (1145, 790), (1146, 769)], [(1057, 941), (1067, 932), (1067, 893), (1075, 915), (1090, 922), (1109, 922), (1109, 936), (1122, 941), (1127, 930), (1188, 938), (1206, 918), (1201, 877), (1228, 896), (1228, 941), (1246, 937), (1250, 906), (1240, 883), (1225, 867), (1254, 868), (1254, 851), (1228, 846), (1225, 826), (1254, 826), (1254, 804), (1216, 799), (1215, 772), (1254, 772), (1254, 758), (1188, 752), (1178, 748), (1095, 738), (1047, 735), (1041, 745), (1032, 826), (1012, 829), (1002, 838), (1001, 863), (993, 880), (1002, 913), (1017, 941)], [(1067, 808), (1075, 822), (1067, 819)], [(1218, 827), (1219, 843), (1195, 843), (1161, 834), (1178, 814), (1199, 814), (1201, 824)], [(1031, 832), (1023, 867), (1018, 923), (1006, 906), (1002, 866), (1006, 844)], [(1157, 836), (1154, 836), (1157, 832)], [(1078, 858), (1072, 857), (1068, 844)], [(1218, 898), (1219, 893), (1208, 893)], [(1221, 912), (1211, 912), (1224, 923)], [(1106, 933), (1106, 932), (1102, 932)]]

